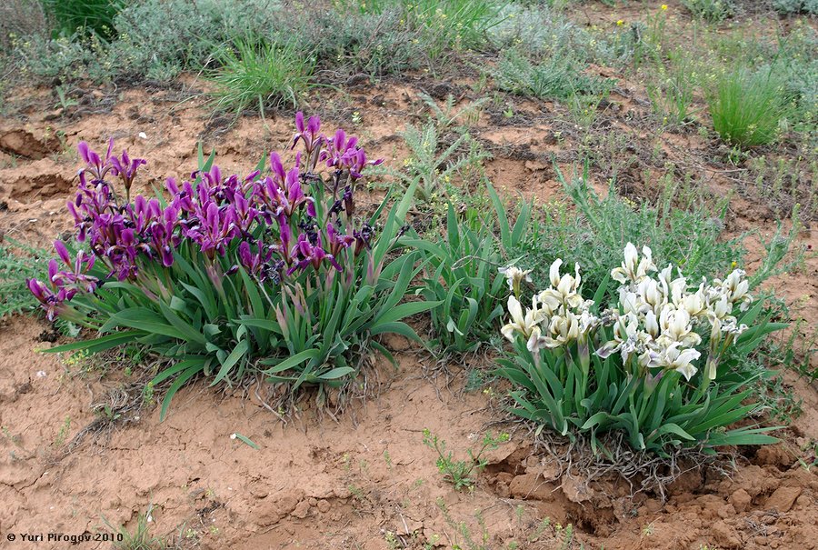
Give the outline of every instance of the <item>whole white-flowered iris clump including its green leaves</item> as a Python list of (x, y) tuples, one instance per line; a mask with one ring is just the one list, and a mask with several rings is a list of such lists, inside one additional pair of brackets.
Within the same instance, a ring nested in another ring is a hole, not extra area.
[[(514, 414), (560, 435), (587, 435), (605, 453), (601, 436), (612, 431), (660, 455), (776, 441), (765, 434), (773, 428), (728, 429), (759, 410), (746, 400), (760, 374), (748, 376), (743, 360), (785, 326), (770, 322), (762, 302), (753, 305), (742, 270), (691, 286), (672, 264), (653, 275), (651, 249), (640, 256), (628, 243), (622, 265), (586, 300), (580, 266), (563, 275), (562, 265), (551, 265), (542, 292), (508, 298), (502, 333), (514, 352), (497, 373), (514, 385)], [(612, 280), (619, 297), (609, 308)]]

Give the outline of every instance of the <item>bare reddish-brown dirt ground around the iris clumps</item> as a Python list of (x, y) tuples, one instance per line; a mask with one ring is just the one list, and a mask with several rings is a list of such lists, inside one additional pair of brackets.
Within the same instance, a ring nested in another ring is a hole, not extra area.
[[(192, 79), (186, 82), (196, 85)], [(424, 113), (417, 93), (425, 84), (367, 87), (348, 100), (324, 97), (325, 124), (349, 128), (352, 114), (363, 114), (352, 129), (373, 145), (375, 155), (399, 166), (407, 152), (396, 133)], [(132, 156), (150, 159), (142, 179), (146, 187), (161, 185), (166, 175), (190, 172), (199, 140), (205, 150), (218, 146), (223, 170), (244, 171), (271, 148), (284, 150), (292, 131), (290, 115), (268, 114), (265, 124), (245, 117), (232, 126), (229, 120), (208, 118), (200, 100), (179, 104), (178, 90), (108, 94), (97, 94), (99, 107), (88, 107), (85, 115), (44, 113), (33, 105), (0, 124), (0, 144), (11, 144), (3, 145), (0, 158), (0, 200), (8, 205), (0, 212), (0, 229), (6, 235), (45, 245), (70, 229), (63, 208), (80, 140), (102, 149), (113, 134), (118, 149), (127, 147)], [(614, 110), (619, 113), (614, 124), (624, 111), (638, 108), (624, 96), (612, 96), (612, 101), (623, 105)], [(520, 101), (514, 106), (519, 118), (502, 126), (484, 112), (473, 134), (494, 154), (487, 175), (506, 194), (563, 201), (552, 155), (570, 172), (576, 160), (570, 151), (582, 135), (566, 132), (560, 117), (544, 115), (542, 106)], [(628, 132), (634, 139), (644, 135)], [(57, 145), (55, 135), (60, 135)], [(659, 167), (665, 162), (695, 167), (701, 161), (696, 148), (707, 146), (696, 135), (659, 139), (665, 144)], [(731, 185), (706, 165), (700, 176), (714, 195)], [(594, 186), (606, 189), (604, 177), (595, 177)], [(650, 187), (641, 191), (658, 193)], [(747, 229), (772, 233), (773, 219), (759, 215), (762, 204), (737, 197), (732, 205), (733, 235)], [(803, 232), (801, 243), (818, 245), (810, 230)], [(752, 269), (760, 246), (753, 239), (747, 245)], [(818, 319), (816, 275), (812, 255), (795, 275), (770, 283), (803, 317), (805, 331), (813, 331)], [(283, 424), (259, 402), (252, 386), (244, 395), (200, 382), (175, 396), (164, 423), (155, 408), (127, 413), (109, 438), (87, 435), (66, 454), (67, 442), (97, 419), (91, 405), (124, 378), (77, 375), (76, 365), (38, 353), (52, 345), (39, 341), (47, 328), (19, 317), (0, 327), (3, 536), (107, 532), (103, 518), (133, 528), (137, 514), (153, 504), (152, 532), (183, 547), (424, 548), (433, 541), (436, 547), (468, 547), (453, 525), (460, 522), (477, 541), (485, 529), (489, 548), (512, 541), (528, 548), (561, 547), (564, 535), (553, 527), (537, 528), (550, 517), (552, 523), (574, 524), (576, 541), (594, 549), (818, 548), (818, 468), (807, 470), (799, 463), (807, 457), (799, 446), (818, 439), (818, 394), (793, 376), (787, 381), (803, 398), (804, 413), (783, 432), (785, 443), (737, 455), (730, 476), (715, 468), (693, 468), (668, 488), (666, 502), (654, 493), (632, 497), (614, 477), (586, 486), (575, 473), (559, 475), (559, 465), (534, 451), (523, 432), (514, 432), (492, 453), (474, 491), (455, 492), (437, 472), (434, 452), (422, 445), (422, 430), (431, 429), (456, 456), (465, 457), (466, 448), (475, 448), (487, 423), (498, 417), (498, 401), (491, 392), (464, 393), (457, 369), (448, 384), (444, 376), (424, 377), (435, 372), (434, 361), (404, 341), (386, 342), (400, 369), (379, 366), (379, 395), (349, 405), (337, 420), (320, 415), (307, 395), (294, 420)], [(259, 448), (231, 439), (236, 432)], [(8, 547), (66, 545), (18, 541)]]

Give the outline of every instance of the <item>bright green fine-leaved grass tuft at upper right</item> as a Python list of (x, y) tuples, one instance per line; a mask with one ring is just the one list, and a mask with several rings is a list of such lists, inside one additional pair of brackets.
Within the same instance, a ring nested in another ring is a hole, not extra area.
[(715, 131), (725, 141), (743, 147), (775, 141), (782, 121), (793, 110), (792, 101), (773, 68), (724, 73), (708, 97)]

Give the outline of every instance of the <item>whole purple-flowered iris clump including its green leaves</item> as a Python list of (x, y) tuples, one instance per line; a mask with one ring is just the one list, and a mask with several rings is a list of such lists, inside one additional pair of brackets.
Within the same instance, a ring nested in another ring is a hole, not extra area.
[(191, 181), (168, 178), (170, 200), (131, 202), (145, 161), (113, 155), (113, 142), (105, 156), (81, 144), (86, 166), (68, 209), (85, 248), (72, 255), (55, 242), (47, 278), (28, 285), (49, 318), (100, 336), (50, 351), (136, 341), (176, 359), (153, 381), (175, 378), (164, 417), (195, 375), (215, 385), (260, 371), (292, 389), (318, 385), (323, 398), (324, 385), (354, 377), (370, 349), (391, 358), (374, 336), (417, 339), (403, 319), (438, 304), (401, 304), (420, 269), (418, 253), (398, 244), (414, 189), (392, 206), (387, 195), (364, 216), (355, 192), (364, 168), (379, 161), (343, 130), (320, 134), (317, 117), (305, 122), (299, 113), (296, 127), (294, 146), (304, 151), (289, 169), (273, 153), (269, 172), (262, 161), (227, 176), (200, 150)]

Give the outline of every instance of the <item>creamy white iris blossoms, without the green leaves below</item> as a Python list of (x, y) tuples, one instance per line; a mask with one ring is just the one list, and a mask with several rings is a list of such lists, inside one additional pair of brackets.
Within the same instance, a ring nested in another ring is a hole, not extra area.
[[(677, 371), (688, 381), (706, 353), (704, 374), (708, 380), (715, 379), (724, 350), (747, 329), (733, 316), (735, 309), (746, 311), (753, 301), (746, 274), (736, 269), (723, 280), (703, 280), (691, 289), (678, 267), (667, 265), (659, 272), (648, 246), (643, 246), (640, 256), (628, 243), (623, 256), (622, 265), (611, 271), (611, 278), (620, 284), (619, 302), (602, 318), (592, 312), (594, 302), (583, 299), (579, 265), (573, 275), (563, 275), (563, 260), (556, 259), (549, 272), (550, 287), (534, 295), (530, 308), (523, 312), (517, 298), (509, 298), (512, 322), (503, 327), (503, 335), (511, 341), (523, 335), (532, 353), (591, 342), (603, 359), (618, 353), (624, 365), (633, 359), (643, 375), (653, 369)], [(506, 271), (513, 290), (512, 276), (522, 281), (530, 273), (514, 270), (513, 275)], [(611, 329), (597, 333), (600, 325)], [(604, 334), (610, 339), (601, 337)], [(703, 335), (710, 336), (706, 350), (699, 349)]]

